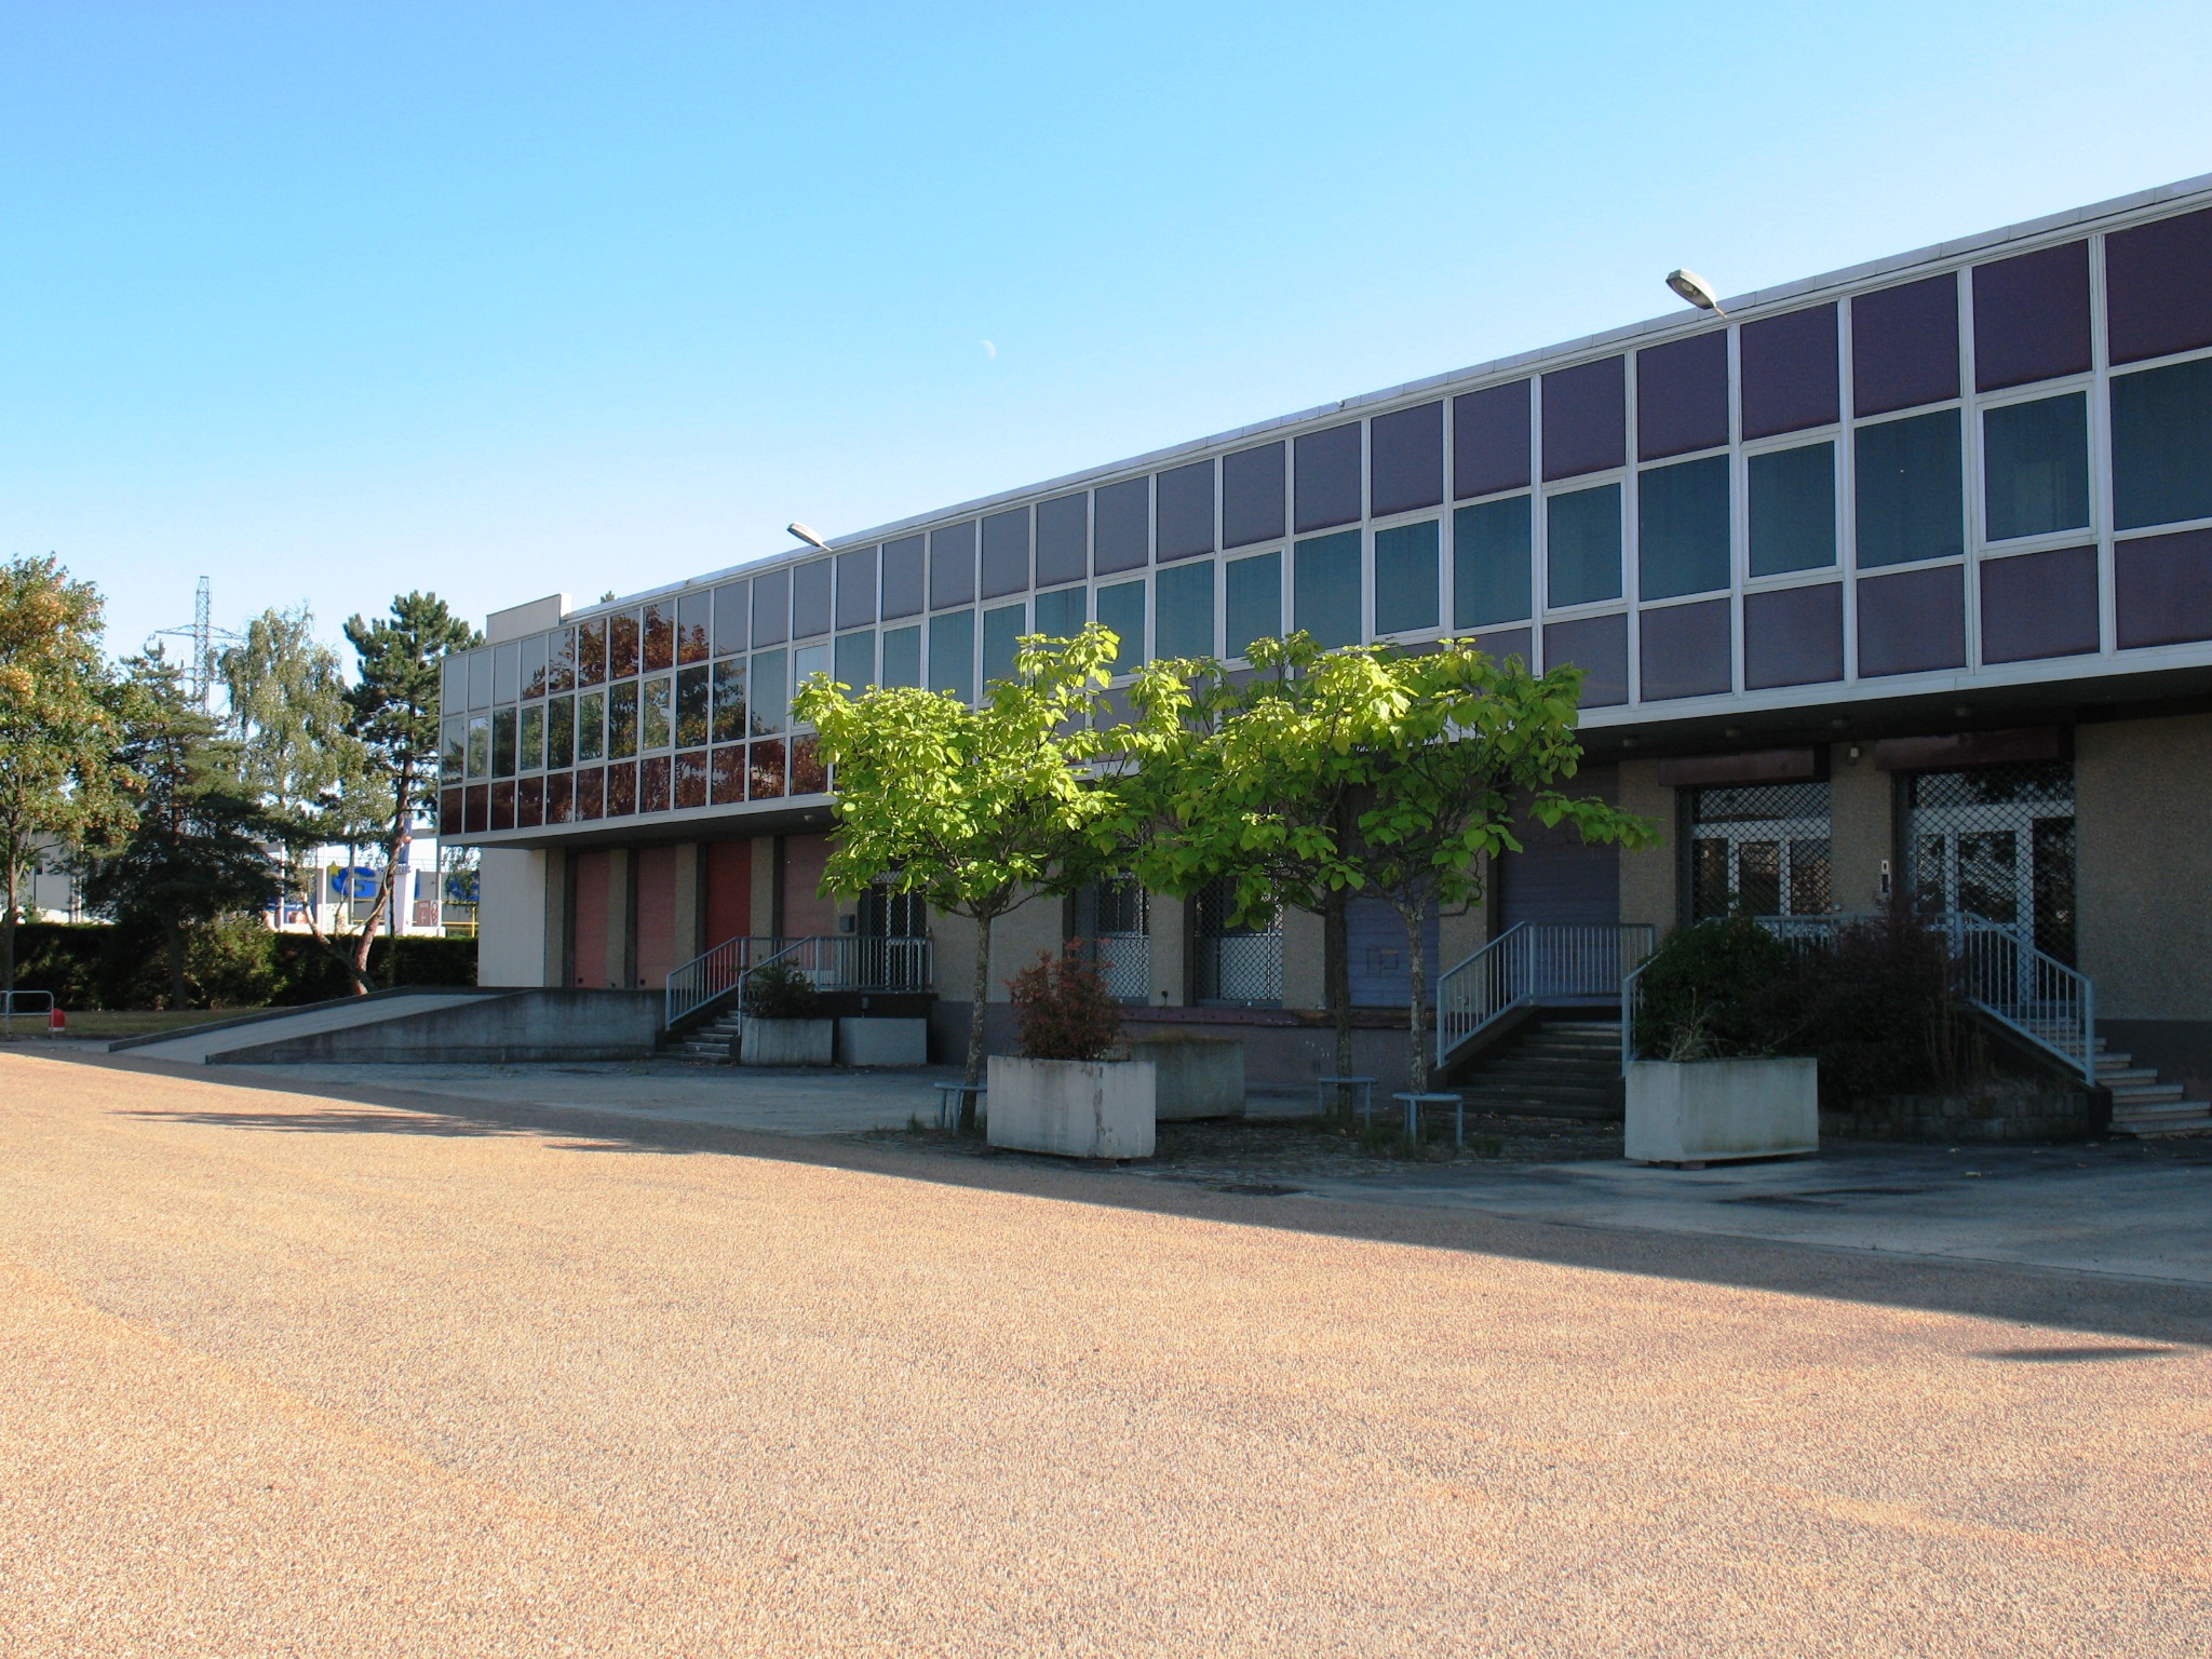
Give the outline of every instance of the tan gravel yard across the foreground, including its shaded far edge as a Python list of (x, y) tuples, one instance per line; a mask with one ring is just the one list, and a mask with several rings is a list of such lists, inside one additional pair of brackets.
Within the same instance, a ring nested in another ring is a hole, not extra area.
[(0, 1652), (2205, 1652), (2203, 1303), (0, 1053)]

